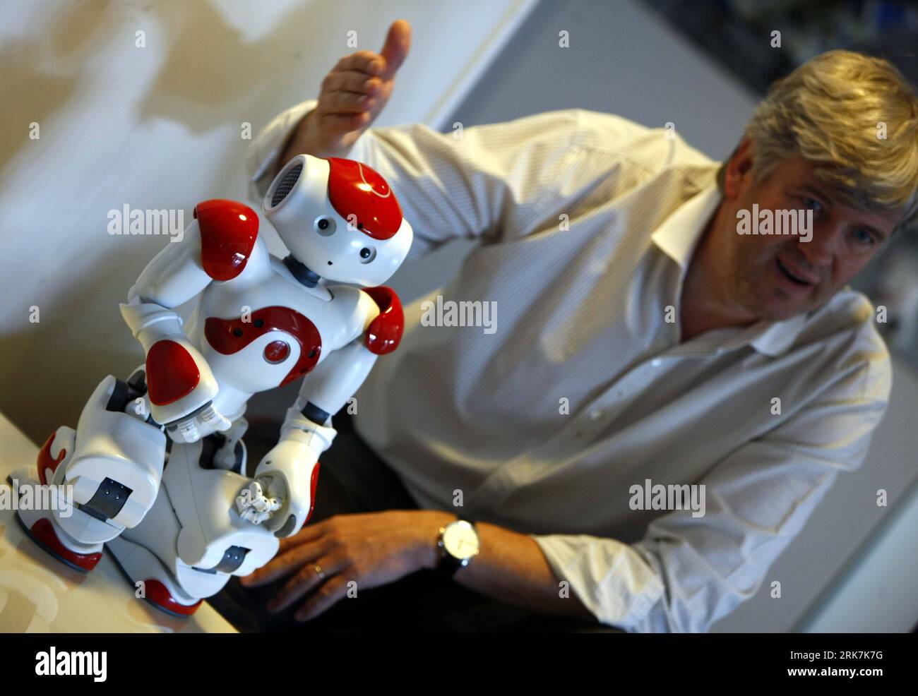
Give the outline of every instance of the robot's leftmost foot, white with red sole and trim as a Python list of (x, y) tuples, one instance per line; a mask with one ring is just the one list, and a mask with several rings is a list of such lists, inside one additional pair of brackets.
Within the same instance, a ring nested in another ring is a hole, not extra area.
[(74, 570), (88, 573), (95, 568), (102, 558), (102, 544), (81, 544), (61, 529), (50, 510), (24, 509), (24, 488), (28, 486), (35, 491), (41, 484), (37, 467), (19, 468), (6, 480), (20, 496), (16, 519), (32, 541)]

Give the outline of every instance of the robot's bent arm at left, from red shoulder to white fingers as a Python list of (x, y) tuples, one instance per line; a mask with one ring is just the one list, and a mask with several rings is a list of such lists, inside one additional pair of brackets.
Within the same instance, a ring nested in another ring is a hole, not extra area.
[[(188, 340), (174, 307), (200, 294), (212, 280), (239, 275), (252, 252), (257, 216), (232, 201), (208, 200), (195, 208), (182, 241), (170, 242), (143, 269), (120, 305), (121, 316), (146, 355), (154, 421), (177, 426), (174, 440), (195, 442), (197, 421), (225, 431), (230, 423), (213, 406), (218, 384)], [(253, 229), (252, 229), (253, 228)]]

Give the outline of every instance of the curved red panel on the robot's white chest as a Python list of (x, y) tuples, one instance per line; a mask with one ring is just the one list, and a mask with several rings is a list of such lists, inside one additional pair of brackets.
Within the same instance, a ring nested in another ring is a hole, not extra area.
[[(239, 353), (249, 343), (268, 331), (284, 331), (299, 343), (299, 359), (278, 387), (304, 376), (319, 362), (322, 339), (316, 325), (295, 309), (264, 307), (252, 312), (251, 321), (207, 317), (204, 335), (214, 350), (224, 355)], [(264, 347), (263, 357), (269, 363), (283, 362), (290, 348), (283, 341), (272, 341)]]

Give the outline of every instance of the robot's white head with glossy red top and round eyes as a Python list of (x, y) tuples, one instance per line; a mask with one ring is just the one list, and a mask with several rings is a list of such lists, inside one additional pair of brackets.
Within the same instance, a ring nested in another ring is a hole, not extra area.
[(263, 210), (299, 262), (338, 283), (382, 285), (414, 236), (386, 180), (340, 157), (294, 157), (268, 187)]

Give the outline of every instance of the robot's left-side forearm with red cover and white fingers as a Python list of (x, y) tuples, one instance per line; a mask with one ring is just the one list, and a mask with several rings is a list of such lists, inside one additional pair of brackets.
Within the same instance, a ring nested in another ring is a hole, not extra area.
[[(158, 347), (166, 342), (172, 345)], [(155, 365), (157, 361), (161, 365)], [(170, 388), (184, 388), (179, 384), (181, 380), (193, 387), (179, 399), (157, 404), (155, 380), (160, 376), (159, 373), (166, 370), (171, 373), (168, 377), (171, 380)], [(147, 355), (147, 372), (151, 388), (150, 414), (154, 421), (162, 425), (177, 426), (177, 431), (173, 435), (174, 440), (196, 442), (201, 437), (201, 425), (210, 426), (212, 431), (229, 430), (232, 423), (213, 404), (213, 399), (218, 393), (217, 380), (204, 356), (184, 336), (172, 335), (163, 341), (153, 343)]]

